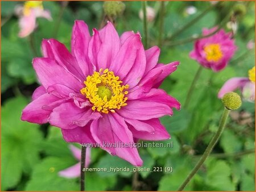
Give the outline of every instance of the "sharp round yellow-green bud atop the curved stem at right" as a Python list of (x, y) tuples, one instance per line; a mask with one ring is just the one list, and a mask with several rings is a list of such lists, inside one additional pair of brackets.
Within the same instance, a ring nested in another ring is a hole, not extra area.
[(228, 108), (228, 110), (236, 110), (241, 106), (242, 101), (237, 93), (229, 92), (222, 98), (222, 103), (224, 103), (224, 106)]

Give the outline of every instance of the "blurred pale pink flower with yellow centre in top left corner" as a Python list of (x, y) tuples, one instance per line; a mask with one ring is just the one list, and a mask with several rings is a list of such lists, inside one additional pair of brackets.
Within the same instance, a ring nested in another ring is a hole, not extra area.
[(19, 16), (19, 37), (26, 37), (35, 30), (36, 18), (52, 20), (50, 12), (43, 9), (42, 1), (26, 1), (24, 6), (16, 7), (15, 12)]

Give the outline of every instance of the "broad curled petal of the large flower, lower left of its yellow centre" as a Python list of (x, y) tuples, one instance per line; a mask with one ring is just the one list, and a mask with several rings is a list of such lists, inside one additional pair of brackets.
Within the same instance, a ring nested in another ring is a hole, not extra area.
[(90, 120), (100, 117), (99, 112), (93, 112), (89, 107), (79, 108), (72, 101), (63, 103), (53, 109), (49, 117), (49, 123), (61, 129), (73, 129), (77, 126), (84, 127)]

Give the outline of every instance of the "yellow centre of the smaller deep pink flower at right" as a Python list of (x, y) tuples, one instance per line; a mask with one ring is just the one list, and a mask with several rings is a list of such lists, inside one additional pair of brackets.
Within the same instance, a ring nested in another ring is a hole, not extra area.
[(219, 44), (209, 44), (204, 47), (207, 61), (217, 62), (222, 58), (222, 51)]

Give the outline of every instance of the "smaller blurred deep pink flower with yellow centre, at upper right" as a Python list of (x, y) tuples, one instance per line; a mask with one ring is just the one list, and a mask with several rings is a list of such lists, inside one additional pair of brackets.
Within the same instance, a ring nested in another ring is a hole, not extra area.
[[(205, 28), (203, 29), (203, 35), (209, 35), (216, 29), (216, 27), (210, 30)], [(224, 30), (220, 30), (212, 36), (197, 40), (189, 56), (205, 68), (218, 72), (228, 65), (236, 49), (231, 34), (226, 34)]]

